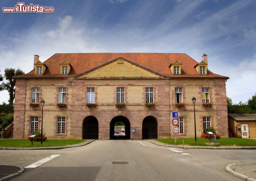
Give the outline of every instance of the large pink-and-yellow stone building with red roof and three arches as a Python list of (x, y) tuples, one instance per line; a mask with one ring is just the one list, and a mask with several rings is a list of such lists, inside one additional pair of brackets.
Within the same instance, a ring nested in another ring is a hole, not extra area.
[[(41, 128), (55, 139), (113, 139), (114, 124), (125, 123), (126, 139), (173, 138), (171, 112), (179, 113), (180, 137), (207, 127), (228, 136), (226, 76), (186, 54), (70, 53), (16, 77), (14, 138)], [(118, 103), (118, 104), (117, 104)], [(147, 104), (146, 104), (147, 103)], [(135, 132), (131, 130), (135, 127)]]

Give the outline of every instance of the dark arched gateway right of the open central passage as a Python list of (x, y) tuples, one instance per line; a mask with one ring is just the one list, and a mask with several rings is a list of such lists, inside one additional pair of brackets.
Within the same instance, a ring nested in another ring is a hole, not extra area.
[(142, 122), (142, 139), (157, 139), (158, 123), (153, 116), (147, 116)]

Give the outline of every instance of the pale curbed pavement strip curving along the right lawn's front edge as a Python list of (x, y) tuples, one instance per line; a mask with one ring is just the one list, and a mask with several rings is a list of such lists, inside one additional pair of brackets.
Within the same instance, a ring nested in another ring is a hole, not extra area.
[(206, 149), (206, 150), (256, 150), (256, 147), (209, 147), (209, 146), (176, 146), (176, 145), (171, 145), (171, 144), (160, 144), (157, 143), (156, 141), (152, 141), (147, 139), (147, 141), (159, 145), (159, 146), (164, 146), (164, 147), (172, 147), (172, 148), (183, 148), (183, 149)]

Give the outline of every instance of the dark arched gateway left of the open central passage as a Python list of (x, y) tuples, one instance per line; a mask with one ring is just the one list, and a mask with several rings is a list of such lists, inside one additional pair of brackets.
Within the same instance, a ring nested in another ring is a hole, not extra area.
[(92, 115), (84, 118), (83, 139), (98, 139), (98, 120)]

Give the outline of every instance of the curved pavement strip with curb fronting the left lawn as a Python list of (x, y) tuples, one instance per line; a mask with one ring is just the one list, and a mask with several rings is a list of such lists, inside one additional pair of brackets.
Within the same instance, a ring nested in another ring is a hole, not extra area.
[(63, 149), (63, 148), (80, 147), (80, 146), (89, 144), (93, 141), (95, 141), (95, 139), (86, 140), (78, 144), (70, 144), (65, 146), (50, 146), (50, 147), (0, 147), (0, 150), (56, 150), (56, 149)]

